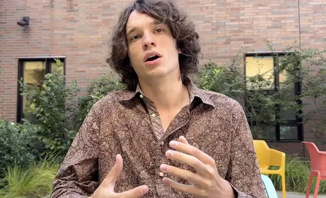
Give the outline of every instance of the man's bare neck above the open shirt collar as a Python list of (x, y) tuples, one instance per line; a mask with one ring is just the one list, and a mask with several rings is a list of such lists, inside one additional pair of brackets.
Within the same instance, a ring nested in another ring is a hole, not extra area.
[(155, 104), (157, 109), (173, 109), (188, 104), (190, 96), (182, 83), (180, 74), (170, 78), (139, 79), (142, 92)]

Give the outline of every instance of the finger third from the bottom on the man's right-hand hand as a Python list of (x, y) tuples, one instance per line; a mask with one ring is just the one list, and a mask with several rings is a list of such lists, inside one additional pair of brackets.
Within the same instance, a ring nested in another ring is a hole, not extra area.
[(166, 156), (167, 156), (167, 158), (169, 158), (171, 160), (175, 160), (175, 161), (178, 161), (178, 162), (181, 162), (181, 163), (191, 166), (199, 173), (206, 174), (209, 172), (207, 170), (208, 165), (203, 164), (200, 160), (198, 160), (197, 158), (195, 158), (193, 156), (183, 154), (183, 153), (180, 153), (177, 151), (172, 151), (172, 150), (167, 151)]

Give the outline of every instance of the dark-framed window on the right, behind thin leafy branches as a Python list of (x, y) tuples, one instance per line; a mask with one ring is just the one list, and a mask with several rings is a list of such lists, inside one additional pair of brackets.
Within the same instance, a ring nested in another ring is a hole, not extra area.
[[(284, 55), (286, 55), (285, 53), (289, 54), (291, 52), (250, 52), (244, 54), (244, 71), (247, 79), (248, 77), (257, 77), (257, 74), (260, 74), (258, 79), (264, 79), (264, 83), (246, 82), (246, 89), (249, 95), (254, 95), (255, 93), (263, 94), (268, 100), (269, 96), (276, 93), (279, 87), (283, 86), (283, 82), (286, 80), (286, 74), (276, 71), (280, 61), (284, 58)], [(295, 95), (301, 92), (301, 83), (295, 82), (293, 86), (291, 85), (287, 90), (289, 90), (287, 94), (294, 98)], [(246, 101), (248, 102), (248, 100), (249, 99)], [(246, 108), (256, 109), (256, 111), (266, 111), (259, 107), (259, 101), (255, 104), (248, 104), (247, 102)], [(301, 101), (294, 100), (293, 102), (301, 104)], [(251, 107), (249, 107), (249, 105), (251, 105)], [(257, 106), (252, 107), (255, 105)], [(273, 124), (266, 124), (264, 122), (266, 118), (259, 118), (258, 120), (248, 119), (251, 130), (255, 130), (254, 137), (256, 136), (258, 139), (272, 141), (303, 140), (302, 119), (297, 116), (295, 109), (290, 108), (283, 110), (282, 104), (277, 104), (274, 106), (274, 109), (269, 110), (275, 112), (274, 117), (268, 118), (273, 120)], [(300, 111), (299, 113), (302, 112)]]

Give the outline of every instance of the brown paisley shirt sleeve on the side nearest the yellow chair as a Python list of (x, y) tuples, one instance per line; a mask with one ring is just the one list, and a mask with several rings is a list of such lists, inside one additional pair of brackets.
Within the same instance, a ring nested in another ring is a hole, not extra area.
[(253, 136), (239, 103), (233, 106), (233, 123), (230, 163), (226, 180), (231, 184), (235, 197), (265, 198)]

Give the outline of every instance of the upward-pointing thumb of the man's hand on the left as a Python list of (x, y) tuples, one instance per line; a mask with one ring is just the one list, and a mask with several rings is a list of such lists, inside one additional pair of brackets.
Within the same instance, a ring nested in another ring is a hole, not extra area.
[(123, 167), (123, 159), (121, 155), (116, 155), (115, 157), (115, 164), (111, 169), (110, 173), (106, 176), (103, 180), (103, 183), (106, 187), (110, 188), (110, 190), (114, 190), (114, 185), (116, 182), (117, 177), (119, 176)]

